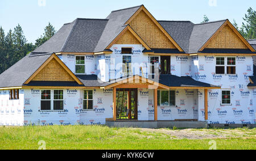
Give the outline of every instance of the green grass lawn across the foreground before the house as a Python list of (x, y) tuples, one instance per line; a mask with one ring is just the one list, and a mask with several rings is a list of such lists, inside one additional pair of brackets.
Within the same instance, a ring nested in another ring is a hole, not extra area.
[[(178, 129), (175, 132), (179, 132)], [(256, 149), (256, 129), (192, 129), (191, 132), (230, 133), (228, 138), (179, 139), (164, 132), (172, 129), (143, 130), (109, 128), (107, 126), (27, 126), (0, 127), (0, 149), (38, 149), (39, 141), (46, 149), (209, 149), (216, 141), (217, 149)], [(236, 133), (236, 134), (233, 134)], [(217, 135), (217, 134), (216, 134)]]

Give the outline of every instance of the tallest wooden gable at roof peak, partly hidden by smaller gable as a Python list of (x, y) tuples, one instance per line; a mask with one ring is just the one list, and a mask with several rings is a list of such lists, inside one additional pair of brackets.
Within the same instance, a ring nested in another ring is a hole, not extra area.
[(166, 32), (159, 22), (141, 6), (125, 25), (129, 24), (135, 32), (150, 46), (150, 48), (165, 48), (178, 49), (183, 52), (183, 49), (176, 43), (174, 39)]

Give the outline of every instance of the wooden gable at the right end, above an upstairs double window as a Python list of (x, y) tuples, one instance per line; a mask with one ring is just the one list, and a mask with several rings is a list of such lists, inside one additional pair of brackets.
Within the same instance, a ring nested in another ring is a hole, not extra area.
[(212, 37), (201, 48), (200, 52), (205, 48), (213, 49), (250, 49), (255, 52), (253, 47), (245, 40), (245, 38), (237, 31), (237, 29), (226, 20), (224, 24), (213, 34)]

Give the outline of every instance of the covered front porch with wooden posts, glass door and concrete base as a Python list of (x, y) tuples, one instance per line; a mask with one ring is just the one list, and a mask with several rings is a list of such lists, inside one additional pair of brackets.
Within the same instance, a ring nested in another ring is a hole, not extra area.
[(108, 125), (202, 127), (196, 122), (208, 120), (208, 90), (220, 87), (166, 86), (134, 76), (104, 88), (113, 88), (113, 118), (107, 120)]

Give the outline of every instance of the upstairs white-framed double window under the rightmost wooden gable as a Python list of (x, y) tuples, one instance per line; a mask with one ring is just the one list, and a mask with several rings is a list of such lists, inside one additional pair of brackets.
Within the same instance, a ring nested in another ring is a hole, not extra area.
[(236, 57), (216, 57), (216, 74), (236, 74)]

